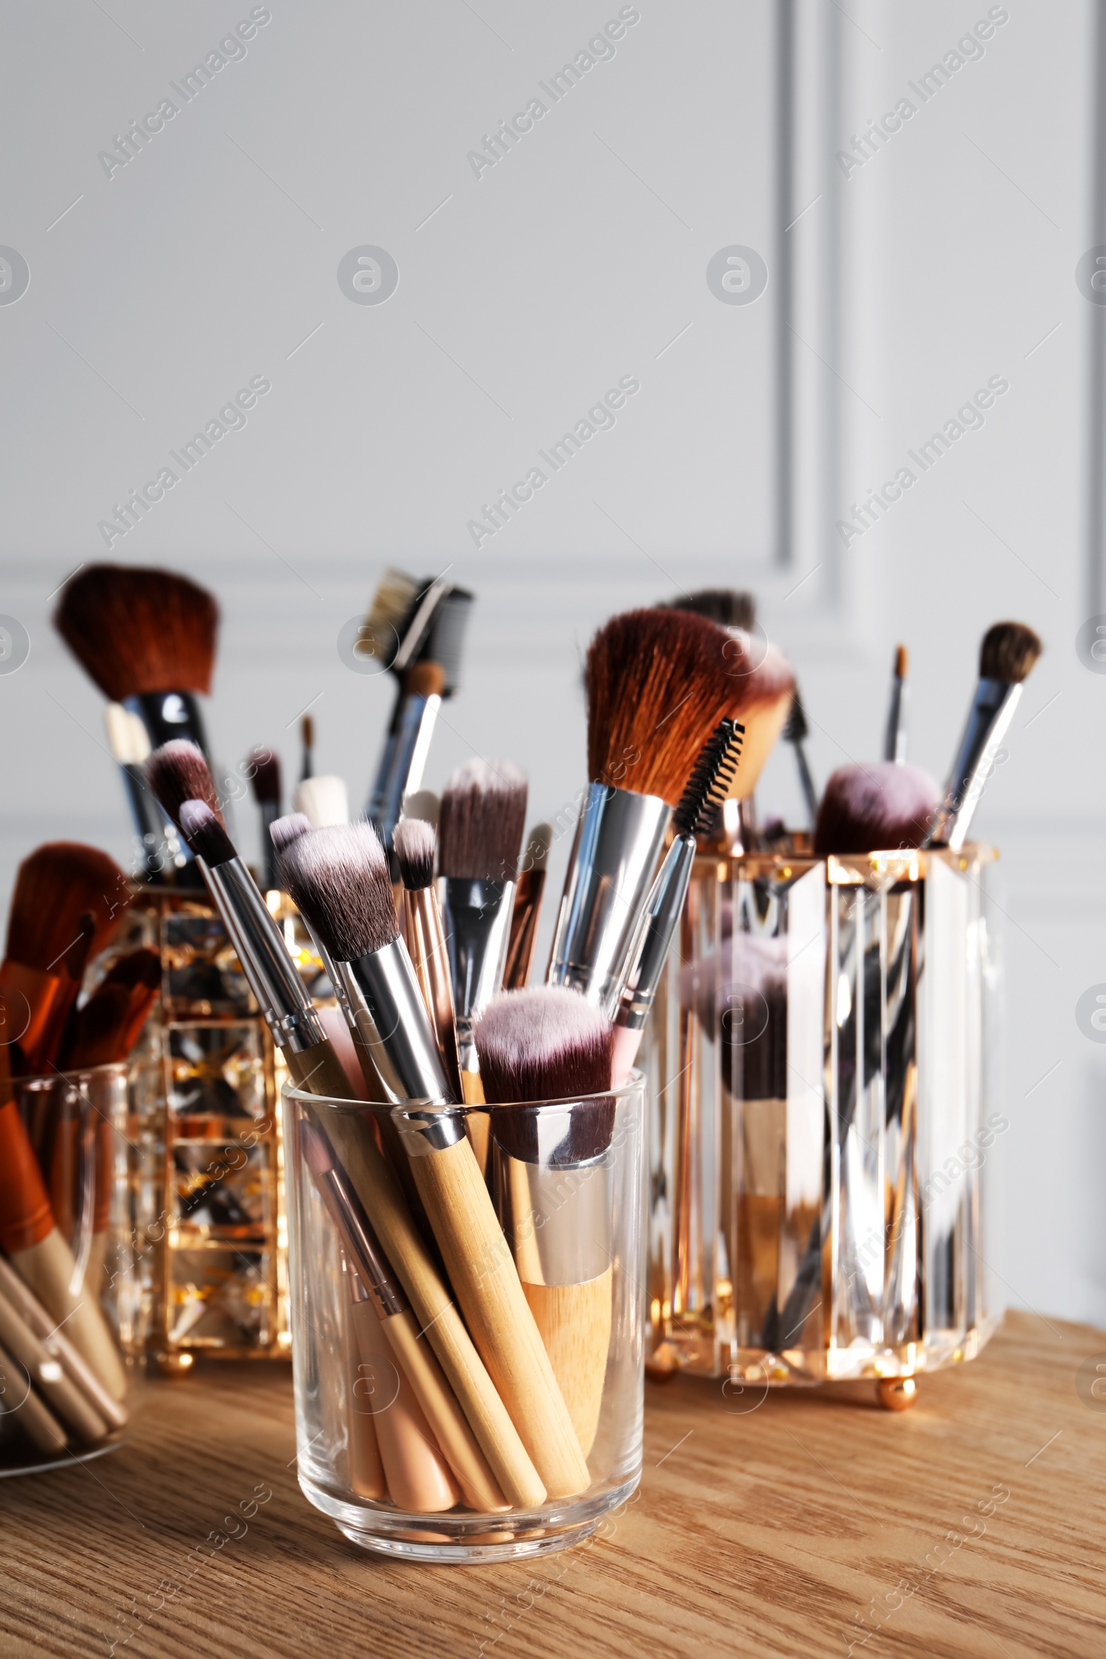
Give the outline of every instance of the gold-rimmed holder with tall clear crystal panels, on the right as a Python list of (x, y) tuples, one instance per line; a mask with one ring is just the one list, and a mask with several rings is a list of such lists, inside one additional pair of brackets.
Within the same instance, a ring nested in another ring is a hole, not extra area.
[(643, 1048), (652, 1377), (902, 1407), (995, 1329), (995, 859), (696, 858)]

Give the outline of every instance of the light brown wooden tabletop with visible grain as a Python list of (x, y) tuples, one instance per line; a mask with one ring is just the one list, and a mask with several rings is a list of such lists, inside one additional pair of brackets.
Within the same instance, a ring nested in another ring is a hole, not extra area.
[[(0, 1654), (1103, 1656), (1089, 1355), (1104, 1332), (1010, 1314), (900, 1415), (871, 1385), (740, 1410), (720, 1384), (650, 1384), (640, 1496), (607, 1536), (471, 1568), (348, 1545), (295, 1483), (289, 1370), (209, 1365), (149, 1384), (113, 1455), (0, 1481)], [(169, 1596), (255, 1488), (249, 1531)]]

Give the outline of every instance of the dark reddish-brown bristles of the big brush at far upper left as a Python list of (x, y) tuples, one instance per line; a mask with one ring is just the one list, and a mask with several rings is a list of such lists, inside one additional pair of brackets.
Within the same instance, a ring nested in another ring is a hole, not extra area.
[(219, 607), (172, 571), (91, 564), (65, 584), (55, 627), (104, 697), (209, 692)]

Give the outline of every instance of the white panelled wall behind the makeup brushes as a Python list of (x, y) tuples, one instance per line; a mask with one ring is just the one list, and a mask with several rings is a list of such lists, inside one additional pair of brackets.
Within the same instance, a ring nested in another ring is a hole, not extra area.
[[(249, 10), (113, 0), (108, 17), (73, 0), (5, 20), (0, 242), (32, 272), (0, 305), (0, 611), (32, 640), (25, 667), (0, 675), (5, 893), (45, 838), (126, 856), (101, 698), (53, 635), (48, 596), (108, 554), (98, 521), (252, 375), (272, 392), (247, 428), (111, 547), (219, 596), (209, 730), (227, 763), (269, 742), (290, 771), (295, 717), (318, 698), (317, 765), (363, 800), (390, 685), (350, 674), (335, 642), (388, 562), (451, 564), (479, 596), (426, 781), (473, 752), (512, 757), (532, 816), (584, 776), (579, 660), (614, 609), (753, 584), (799, 667), (819, 778), (877, 752), (899, 639), (912, 758), (942, 775), (982, 630), (1021, 617), (1048, 650), (978, 816), (1003, 849), (1008, 911), (995, 1266), (1011, 1302), (1106, 1322), (1103, 1052), (1074, 1024), (1079, 994), (1106, 980), (1106, 682), (1074, 655), (1103, 604), (1084, 526), (1094, 319), (1074, 282), (1096, 239), (1089, 5), (1015, 0), (985, 56), (929, 105), (914, 98), (915, 118), (846, 178), (834, 151), (912, 96), (905, 83), (988, 8), (852, 0), (827, 20), (799, 0), (784, 182), (794, 214), (813, 206), (786, 232), (776, 13), (721, 0), (642, 0), (615, 56), (479, 179), (466, 153), (544, 96), (537, 81), (617, 3), (274, 0), (247, 56), (106, 178), (98, 151)], [(338, 260), (361, 244), (398, 262), (383, 305), (338, 289)], [(728, 244), (769, 264), (753, 305), (706, 285)], [(781, 257), (796, 330), (789, 564), (773, 562)], [(481, 503), (622, 375), (640, 393), (617, 426), (476, 549), (466, 521)], [(1010, 390), (983, 430), (846, 551), (836, 518), (992, 375)], [(769, 763), (761, 810), (798, 811), (788, 755)], [(252, 851), (249, 810), (239, 825)]]

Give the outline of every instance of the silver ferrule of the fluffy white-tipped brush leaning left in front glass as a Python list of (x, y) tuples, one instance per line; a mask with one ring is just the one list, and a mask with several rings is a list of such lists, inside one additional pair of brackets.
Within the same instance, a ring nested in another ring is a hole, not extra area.
[[(464, 1117), (434, 1110), (456, 1102), (403, 939), (357, 962), (335, 962), (335, 972), (355, 1039), (368, 1048), (393, 1105), (408, 1108), (393, 1113), (408, 1153), (441, 1151), (463, 1140)], [(426, 1102), (428, 1110), (411, 1112), (411, 1102)]]

